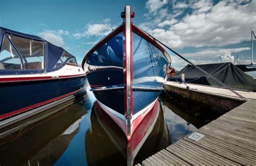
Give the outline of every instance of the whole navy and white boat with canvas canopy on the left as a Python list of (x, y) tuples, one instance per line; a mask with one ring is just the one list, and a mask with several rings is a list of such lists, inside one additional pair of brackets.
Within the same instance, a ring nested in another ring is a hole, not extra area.
[(0, 40), (0, 129), (85, 92), (85, 72), (62, 47), (3, 27)]

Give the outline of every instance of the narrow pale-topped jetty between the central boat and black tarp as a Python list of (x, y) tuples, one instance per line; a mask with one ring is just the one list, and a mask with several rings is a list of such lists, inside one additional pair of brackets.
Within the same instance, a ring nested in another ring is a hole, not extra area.
[[(187, 89), (187, 86), (190, 89)], [(164, 85), (166, 91), (185, 96), (186, 98), (206, 103), (212, 106), (218, 106), (223, 110), (229, 111), (247, 100), (256, 99), (256, 93), (250, 91), (236, 91), (244, 98), (239, 98), (228, 89), (220, 87), (211, 87), (197, 84), (180, 84), (175, 81), (167, 81)], [(225, 112), (225, 113), (226, 113)]]

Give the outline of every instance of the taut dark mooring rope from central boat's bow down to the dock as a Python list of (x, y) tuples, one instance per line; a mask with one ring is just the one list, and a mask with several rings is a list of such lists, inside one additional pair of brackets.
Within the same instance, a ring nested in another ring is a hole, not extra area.
[[(143, 30), (143, 29), (142, 29)], [(144, 31), (144, 30), (143, 30)], [(144, 31), (145, 33), (147, 33), (146, 31)], [(158, 39), (154, 38), (153, 36), (151, 36), (149, 33), (147, 33), (150, 37), (152, 37), (154, 40), (158, 41), (161, 45), (165, 46), (167, 49), (169, 49), (170, 51), (172, 51), (173, 53), (175, 53), (177, 56), (179, 56), (181, 59), (185, 60), (187, 63), (191, 64), (192, 66), (196, 67), (199, 71), (205, 73), (206, 75), (208, 75), (208, 77), (211, 77), (213, 80), (217, 81), (220, 85), (223, 85), (224, 87), (226, 87), (227, 89), (229, 89), (231, 92), (233, 92), (234, 94), (238, 95), (241, 99), (246, 99), (244, 98), (244, 96), (240, 95), (239, 93), (235, 92), (232, 88), (228, 87), (226, 84), (224, 84), (223, 82), (219, 81), (217, 78), (213, 77), (211, 74), (207, 73), (206, 71), (204, 71), (203, 69), (201, 69), (200, 67), (198, 67), (197, 65), (194, 65), (191, 61), (187, 60), (186, 58), (184, 58), (183, 56), (181, 56), (179, 53), (177, 53), (176, 51), (172, 50), (171, 48), (169, 48), (168, 46), (166, 46), (164, 43), (162, 43), (161, 41), (159, 41)]]

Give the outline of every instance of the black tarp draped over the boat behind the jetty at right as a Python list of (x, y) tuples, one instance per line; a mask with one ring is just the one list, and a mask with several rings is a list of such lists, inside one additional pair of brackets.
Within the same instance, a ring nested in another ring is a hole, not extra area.
[[(231, 88), (246, 89), (256, 92), (256, 80), (254, 80), (250, 75), (242, 72), (232, 63), (205, 64), (197, 66)], [(192, 65), (185, 66), (181, 71), (174, 75), (174, 77), (170, 78), (170, 80), (180, 80), (181, 74), (185, 74), (185, 81), (187, 83), (222, 87), (218, 82), (214, 81)]]

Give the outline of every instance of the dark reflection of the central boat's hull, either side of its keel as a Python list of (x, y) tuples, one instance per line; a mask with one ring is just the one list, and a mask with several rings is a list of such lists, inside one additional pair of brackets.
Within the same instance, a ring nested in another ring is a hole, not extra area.
[[(152, 125), (152, 132), (145, 137), (144, 143), (138, 150), (136, 157), (131, 158), (134, 164), (171, 144), (169, 130), (164, 120), (163, 108), (159, 101), (154, 106), (157, 118)], [(91, 127), (85, 136), (86, 160), (89, 165), (126, 165), (126, 149), (131, 146), (116, 122), (107, 115), (96, 101), (91, 112)]]

